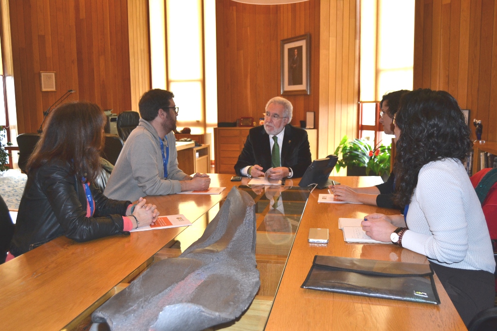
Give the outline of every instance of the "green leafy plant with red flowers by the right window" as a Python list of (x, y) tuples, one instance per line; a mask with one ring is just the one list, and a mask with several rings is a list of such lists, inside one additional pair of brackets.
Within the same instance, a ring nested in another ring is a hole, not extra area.
[[(343, 136), (334, 154), (341, 153), (335, 169), (347, 168), (347, 176), (388, 176), (390, 172), (390, 146), (372, 148), (365, 140), (349, 140)], [(359, 170), (357, 170), (359, 168)]]

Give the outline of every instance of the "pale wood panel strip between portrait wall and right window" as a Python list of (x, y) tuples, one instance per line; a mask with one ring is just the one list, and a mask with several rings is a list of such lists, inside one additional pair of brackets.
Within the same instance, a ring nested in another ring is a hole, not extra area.
[(319, 51), (319, 115), (328, 117), (328, 121), (320, 121), (318, 157), (334, 152), (343, 135), (357, 136), (357, 3), (355, 0), (323, 1), (320, 5), (321, 40), (328, 40), (328, 43), (321, 44)]

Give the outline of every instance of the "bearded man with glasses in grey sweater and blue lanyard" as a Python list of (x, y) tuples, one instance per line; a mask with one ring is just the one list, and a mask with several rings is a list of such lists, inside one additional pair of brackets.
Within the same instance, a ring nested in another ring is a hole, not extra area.
[(110, 199), (135, 201), (144, 196), (207, 190), (206, 174), (188, 176), (178, 168), (174, 94), (161, 89), (140, 98), (140, 124), (131, 132), (105, 187)]

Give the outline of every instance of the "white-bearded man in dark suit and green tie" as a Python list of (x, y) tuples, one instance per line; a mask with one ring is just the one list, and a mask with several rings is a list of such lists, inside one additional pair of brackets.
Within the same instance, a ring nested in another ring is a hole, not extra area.
[(244, 149), (235, 164), (239, 176), (269, 178), (302, 177), (311, 164), (311, 150), (305, 130), (292, 126), (293, 106), (282, 97), (266, 104), (264, 125), (250, 129)]

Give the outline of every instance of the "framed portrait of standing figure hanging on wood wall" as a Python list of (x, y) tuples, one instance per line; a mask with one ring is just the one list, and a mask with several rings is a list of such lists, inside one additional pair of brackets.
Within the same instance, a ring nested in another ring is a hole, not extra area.
[(281, 94), (310, 93), (310, 46), (309, 33), (281, 41)]

